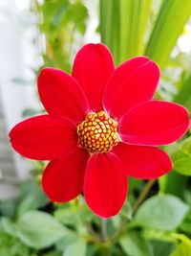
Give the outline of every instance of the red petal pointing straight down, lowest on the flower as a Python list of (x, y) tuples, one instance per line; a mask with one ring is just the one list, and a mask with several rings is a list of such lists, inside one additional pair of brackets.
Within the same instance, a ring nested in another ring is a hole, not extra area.
[(117, 215), (127, 194), (124, 166), (115, 154), (93, 155), (87, 166), (84, 197), (90, 208), (100, 217)]

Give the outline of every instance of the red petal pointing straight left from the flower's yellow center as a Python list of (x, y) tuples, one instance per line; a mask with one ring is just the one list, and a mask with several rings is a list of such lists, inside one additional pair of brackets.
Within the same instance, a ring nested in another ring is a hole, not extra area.
[(11, 145), (20, 154), (36, 160), (52, 160), (74, 151), (76, 128), (64, 118), (32, 117), (11, 129)]

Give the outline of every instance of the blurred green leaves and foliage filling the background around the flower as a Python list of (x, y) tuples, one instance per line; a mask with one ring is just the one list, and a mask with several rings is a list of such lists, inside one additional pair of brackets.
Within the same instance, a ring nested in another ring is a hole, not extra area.
[[(32, 12), (45, 39), (43, 65), (70, 73), (74, 52), (84, 43), (88, 28), (84, 1), (32, 0)], [(100, 0), (96, 33), (116, 65), (137, 55), (157, 61), (162, 76), (156, 99), (190, 110), (191, 54), (178, 45), (190, 28), (190, 15), (190, 0)], [(29, 113), (34, 112), (28, 109), (25, 114)], [(0, 255), (190, 256), (190, 131), (165, 150), (173, 159), (174, 172), (148, 182), (131, 178), (122, 211), (106, 222), (107, 236), (103, 221), (91, 213), (82, 196), (54, 204), (43, 195), (40, 179), (45, 164), (35, 162), (33, 180), (21, 185), (17, 198), (0, 203)]]

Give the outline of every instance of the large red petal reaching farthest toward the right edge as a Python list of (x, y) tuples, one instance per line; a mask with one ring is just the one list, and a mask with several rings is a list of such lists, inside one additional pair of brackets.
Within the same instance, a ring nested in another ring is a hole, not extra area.
[(119, 122), (120, 138), (130, 144), (159, 146), (172, 143), (189, 125), (181, 105), (152, 101), (135, 106)]

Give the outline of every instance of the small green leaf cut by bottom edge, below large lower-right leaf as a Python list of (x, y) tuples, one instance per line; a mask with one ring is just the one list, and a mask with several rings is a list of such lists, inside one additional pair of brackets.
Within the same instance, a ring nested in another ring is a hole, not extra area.
[(129, 256), (153, 255), (151, 245), (143, 240), (139, 232), (128, 232), (119, 239), (119, 244)]

